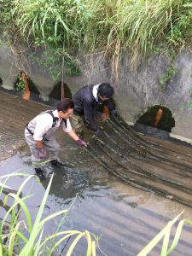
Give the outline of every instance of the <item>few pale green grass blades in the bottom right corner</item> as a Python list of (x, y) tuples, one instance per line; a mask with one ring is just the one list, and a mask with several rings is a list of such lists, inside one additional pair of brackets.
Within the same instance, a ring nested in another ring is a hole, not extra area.
[(174, 218), (172, 221), (170, 221), (166, 227), (160, 231), (159, 234), (157, 234), (157, 236), (154, 237), (154, 239), (152, 239), (152, 241), (150, 241), (148, 243), (148, 245), (146, 247), (143, 248), (143, 250), (137, 254), (137, 256), (146, 256), (148, 255), (148, 253), (150, 253), (150, 251), (157, 245), (157, 243), (163, 238), (163, 243), (162, 243), (162, 247), (161, 247), (161, 256), (166, 256), (169, 255), (170, 253), (172, 253), (172, 251), (175, 249), (175, 247), (177, 247), (177, 242), (179, 241), (179, 238), (181, 236), (181, 232), (183, 229), (183, 224), (187, 223), (187, 224), (192, 224), (192, 221), (189, 219), (182, 219), (178, 224), (177, 224), (177, 230), (174, 236), (174, 239), (172, 241), (172, 245), (169, 247), (169, 242), (170, 242), (170, 235), (171, 235), (171, 230), (173, 225), (177, 222), (178, 218), (180, 218), (180, 216), (182, 215), (183, 212), (181, 212), (180, 214), (177, 215), (176, 218)]

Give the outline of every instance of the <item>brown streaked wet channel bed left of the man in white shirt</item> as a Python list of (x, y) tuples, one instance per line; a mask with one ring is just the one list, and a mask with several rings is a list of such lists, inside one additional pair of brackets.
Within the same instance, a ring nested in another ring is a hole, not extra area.
[(35, 115), (48, 106), (22, 100), (20, 97), (0, 92), (0, 161), (15, 154), (25, 145), (24, 129)]

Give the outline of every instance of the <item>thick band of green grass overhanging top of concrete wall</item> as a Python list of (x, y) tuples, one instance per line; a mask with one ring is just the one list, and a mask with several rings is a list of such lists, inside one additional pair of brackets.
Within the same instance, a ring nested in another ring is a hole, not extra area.
[[(132, 61), (191, 47), (190, 0), (1, 0), (3, 32), (13, 41), (53, 47), (76, 59), (103, 52), (113, 64), (127, 49)], [(15, 39), (13, 39), (15, 38)], [(55, 57), (56, 59), (56, 57)], [(73, 64), (73, 61), (72, 63)]]

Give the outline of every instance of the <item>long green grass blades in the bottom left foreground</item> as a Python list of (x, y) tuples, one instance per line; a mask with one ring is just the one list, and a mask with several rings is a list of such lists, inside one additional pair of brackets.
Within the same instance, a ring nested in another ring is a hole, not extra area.
[[(96, 255), (96, 236), (90, 235), (88, 231), (81, 232), (79, 230), (60, 230), (61, 224), (63, 223), (68, 212), (66, 209), (60, 212), (52, 213), (46, 218), (42, 218), (53, 176), (49, 180), (49, 184), (44, 193), (41, 205), (38, 208), (34, 223), (32, 223), (32, 213), (26, 206), (27, 199), (32, 196), (29, 195), (31, 192), (29, 191), (28, 195), (21, 198), (22, 190), (26, 186), (28, 186), (28, 188), (30, 187), (28, 184), (31, 183), (31, 179), (34, 176), (22, 173), (5, 175), (0, 177), (0, 179), (4, 180), (3, 186), (6, 185), (9, 178), (15, 176), (26, 176), (26, 178), (23, 183), (21, 183), (17, 193), (9, 193), (9, 195), (6, 195), (4, 198), (3, 205), (7, 209), (7, 212), (5, 213), (0, 224), (0, 255), (34, 256), (41, 254), (50, 256), (54, 255), (54, 252), (61, 255), (62, 252), (60, 252), (59, 247), (61, 244), (63, 245), (63, 243), (65, 245), (68, 242), (69, 237), (71, 237), (70, 244), (67, 245), (65, 255), (72, 255), (74, 247), (76, 247), (80, 240), (87, 241), (87, 247), (85, 249), (86, 253), (84, 253), (84, 255)], [(2, 193), (3, 187), (0, 187), (1, 197)], [(12, 206), (9, 207), (9, 210), (8, 206), (6, 206), (8, 198), (12, 198), (14, 200)], [(20, 218), (20, 215), (23, 219)], [(49, 236), (47, 234), (45, 235), (45, 225), (49, 222), (49, 220), (58, 216), (61, 216), (61, 223), (58, 225), (55, 224), (55, 233), (49, 234)], [(94, 240), (92, 237), (94, 237)]]

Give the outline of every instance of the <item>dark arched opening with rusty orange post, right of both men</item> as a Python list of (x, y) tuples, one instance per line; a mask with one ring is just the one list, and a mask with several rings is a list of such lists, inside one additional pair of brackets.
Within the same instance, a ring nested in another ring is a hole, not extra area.
[(152, 126), (163, 131), (172, 131), (175, 126), (175, 119), (172, 118), (172, 112), (169, 108), (155, 105), (143, 114), (137, 123)]

